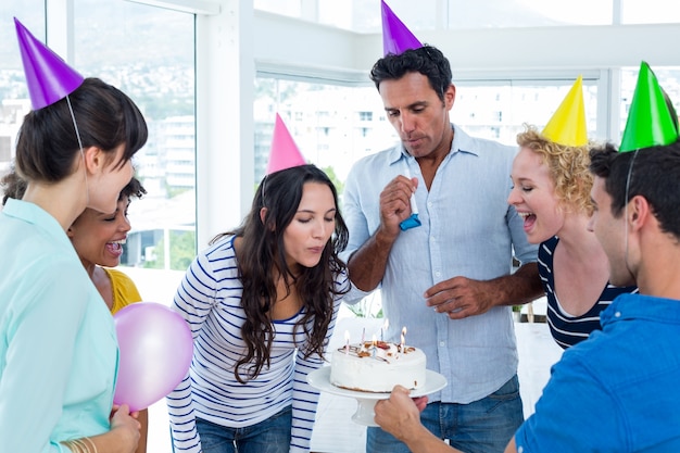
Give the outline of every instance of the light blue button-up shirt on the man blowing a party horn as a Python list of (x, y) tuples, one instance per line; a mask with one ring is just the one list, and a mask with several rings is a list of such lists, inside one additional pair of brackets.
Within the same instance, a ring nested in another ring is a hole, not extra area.
[[(343, 217), (350, 229), (347, 260), (380, 224), (380, 192), (398, 175), (418, 178), (416, 204), (423, 225), (402, 231), (381, 282), (387, 338), (423, 349), (427, 367), (449, 385), (430, 401), (469, 403), (500, 389), (517, 373), (509, 306), (452, 320), (426, 306), (424, 292), (455, 276), (488, 280), (508, 275), (513, 250), (522, 264), (537, 260), (522, 219), (507, 204), (516, 147), (473, 138), (454, 127), (451, 152), (427, 190), (420, 167), (403, 146), (368, 155), (350, 172)], [(349, 303), (353, 301), (348, 300)]]

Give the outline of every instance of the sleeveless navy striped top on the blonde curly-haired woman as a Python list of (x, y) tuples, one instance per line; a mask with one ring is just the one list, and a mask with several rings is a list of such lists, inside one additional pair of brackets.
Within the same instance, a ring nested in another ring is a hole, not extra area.
[(553, 339), (563, 349), (583, 341), (593, 330), (601, 330), (600, 313), (612, 304), (617, 295), (638, 292), (637, 287), (615, 287), (607, 282), (593, 306), (580, 316), (571, 316), (559, 305), (555, 294), (553, 254), (559, 242), (556, 236), (541, 243), (539, 249), (539, 275), (547, 299), (547, 325)]

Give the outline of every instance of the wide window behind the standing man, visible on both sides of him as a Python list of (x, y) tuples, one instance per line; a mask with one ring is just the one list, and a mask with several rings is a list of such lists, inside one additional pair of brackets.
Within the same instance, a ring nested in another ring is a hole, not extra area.
[[(474, 136), (515, 144), (525, 123), (539, 128), (547, 123), (574, 79), (455, 84), (452, 121)], [(256, 87), (255, 180), (264, 175), (277, 112), (304, 158), (332, 172), (340, 191), (354, 162), (399, 141), (373, 85), (341, 87), (257, 78)], [(584, 81), (583, 93), (589, 135), (594, 137), (597, 112), (594, 80)]]

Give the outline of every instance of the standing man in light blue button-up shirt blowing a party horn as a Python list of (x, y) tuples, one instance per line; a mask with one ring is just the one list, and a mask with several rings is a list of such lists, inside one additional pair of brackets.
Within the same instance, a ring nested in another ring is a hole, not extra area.
[[(424, 424), (467, 452), (502, 451), (524, 421), (511, 305), (543, 293), (537, 247), (505, 202), (517, 149), (450, 123), (455, 87), (433, 47), (386, 55), (372, 79), (401, 143), (348, 176), (350, 278), (365, 291), (381, 288), (387, 340), (400, 341), (407, 327), (427, 368), (445, 376)], [(416, 206), (420, 225), (408, 228)], [(514, 274), (513, 253), (521, 263)], [(407, 448), (368, 428), (367, 452), (387, 451)]]

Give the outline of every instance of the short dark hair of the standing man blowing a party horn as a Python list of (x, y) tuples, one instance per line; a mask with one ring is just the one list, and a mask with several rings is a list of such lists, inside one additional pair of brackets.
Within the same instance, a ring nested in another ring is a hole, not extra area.
[(382, 80), (396, 80), (406, 73), (420, 73), (427, 77), (430, 87), (439, 99), (444, 100), (444, 92), (452, 83), (451, 65), (441, 50), (424, 45), (418, 49), (408, 49), (398, 55), (388, 53), (376, 62), (370, 70), (370, 79), (380, 89)]

